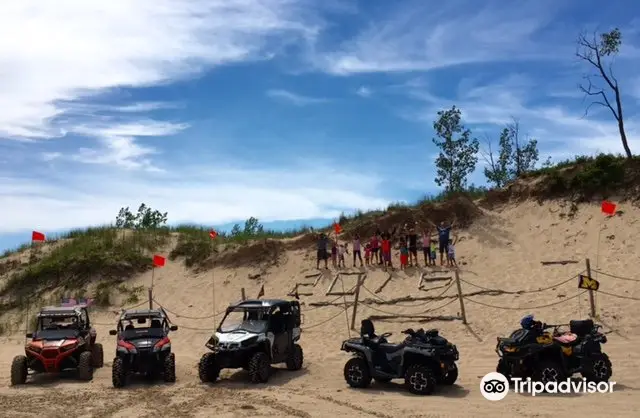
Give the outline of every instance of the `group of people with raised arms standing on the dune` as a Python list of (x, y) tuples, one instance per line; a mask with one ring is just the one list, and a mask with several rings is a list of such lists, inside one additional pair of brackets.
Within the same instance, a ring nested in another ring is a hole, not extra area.
[[(379, 265), (393, 268), (391, 250), (394, 244), (400, 250), (399, 261), (402, 270), (420, 265), (419, 252), (423, 254), (425, 267), (436, 265), (438, 253), (440, 253), (440, 265), (444, 265), (446, 261), (447, 266), (455, 267), (457, 266), (455, 255), (457, 237), (451, 236), (454, 225), (455, 219), (451, 223), (440, 222), (439, 225), (429, 221), (426, 227), (414, 222), (414, 225), (405, 224), (401, 231), (397, 228), (392, 231), (381, 231), (378, 227), (367, 241), (363, 241), (359, 234), (355, 234), (351, 242), (353, 267), (356, 267), (356, 263), (359, 262), (361, 267)], [(319, 234), (316, 268), (320, 268), (321, 261), (324, 261), (325, 268), (329, 268), (329, 258), (334, 268), (345, 268), (347, 255), (350, 255), (348, 242), (341, 241), (337, 234), (333, 239), (325, 233)]]

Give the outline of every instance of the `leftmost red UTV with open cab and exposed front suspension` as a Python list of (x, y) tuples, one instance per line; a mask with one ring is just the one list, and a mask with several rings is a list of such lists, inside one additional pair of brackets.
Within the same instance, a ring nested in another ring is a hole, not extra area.
[(91, 380), (93, 369), (104, 363), (102, 344), (96, 343), (84, 305), (46, 307), (37, 316), (36, 331), (28, 333), (25, 355), (11, 363), (11, 385), (26, 383), (35, 373), (77, 372), (81, 380)]

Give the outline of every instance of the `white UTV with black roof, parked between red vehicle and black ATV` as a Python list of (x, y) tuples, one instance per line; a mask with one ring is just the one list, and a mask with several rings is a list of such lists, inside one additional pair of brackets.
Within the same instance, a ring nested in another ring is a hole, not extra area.
[(252, 383), (266, 383), (271, 365), (300, 370), (304, 360), (297, 301), (244, 300), (230, 305), (200, 359), (202, 382), (215, 382), (222, 369), (245, 369)]

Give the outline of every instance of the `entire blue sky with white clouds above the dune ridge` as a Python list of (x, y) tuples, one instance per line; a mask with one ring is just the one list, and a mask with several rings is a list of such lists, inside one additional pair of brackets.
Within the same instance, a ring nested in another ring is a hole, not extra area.
[(583, 117), (585, 30), (623, 32), (639, 145), (632, 1), (5, 3), (0, 248), (140, 202), (173, 223), (280, 227), (414, 200), (438, 191), (432, 123), (453, 104), (481, 141), (518, 118), (542, 159), (621, 152), (606, 111)]

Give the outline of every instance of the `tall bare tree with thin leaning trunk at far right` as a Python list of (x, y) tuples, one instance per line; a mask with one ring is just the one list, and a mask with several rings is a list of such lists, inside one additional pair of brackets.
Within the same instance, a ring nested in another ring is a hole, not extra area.
[[(596, 69), (596, 73), (593, 75), (585, 75), (585, 84), (580, 84), (578, 88), (586, 96), (594, 98), (594, 101), (587, 106), (585, 115), (589, 112), (589, 109), (593, 105), (599, 105), (606, 107), (611, 111), (613, 117), (618, 122), (618, 132), (620, 133), (620, 140), (622, 146), (627, 154), (627, 158), (632, 158), (631, 149), (627, 142), (627, 134), (624, 129), (624, 116), (622, 114), (622, 97), (620, 94), (620, 86), (618, 80), (613, 75), (612, 62), (605, 63), (604, 58), (614, 57), (618, 54), (622, 45), (622, 34), (618, 28), (613, 29), (607, 33), (598, 34), (594, 33), (593, 36), (587, 38), (582, 34), (578, 37), (578, 50), (576, 56), (581, 60), (589, 63)], [(593, 78), (599, 78), (604, 81), (605, 87), (600, 87), (593, 82)], [(611, 104), (611, 100), (605, 91), (608, 88), (609, 94), (613, 92), (615, 99), (615, 108)]]

